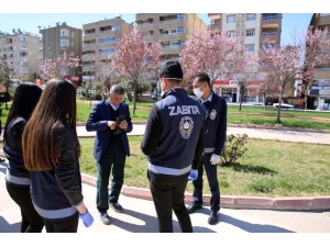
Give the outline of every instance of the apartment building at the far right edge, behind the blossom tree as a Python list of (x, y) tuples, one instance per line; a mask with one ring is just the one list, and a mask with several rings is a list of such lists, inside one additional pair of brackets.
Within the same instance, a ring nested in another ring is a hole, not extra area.
[[(327, 29), (330, 35), (330, 13), (315, 13), (310, 25), (318, 30)], [(321, 65), (317, 69), (307, 105), (310, 109), (330, 110), (330, 64)]]

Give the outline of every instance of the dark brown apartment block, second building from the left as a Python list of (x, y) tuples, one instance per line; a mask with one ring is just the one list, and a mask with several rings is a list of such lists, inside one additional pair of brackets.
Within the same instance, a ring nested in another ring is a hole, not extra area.
[[(64, 55), (64, 52), (66, 52), (67, 55), (73, 54), (75, 57), (81, 57), (81, 29), (72, 27), (67, 25), (66, 22), (57, 22), (53, 27), (38, 27), (42, 35), (43, 59), (57, 59), (58, 56)], [(77, 86), (77, 83), (81, 81), (81, 67), (78, 66), (74, 72), (66, 71), (65, 78), (73, 80)]]

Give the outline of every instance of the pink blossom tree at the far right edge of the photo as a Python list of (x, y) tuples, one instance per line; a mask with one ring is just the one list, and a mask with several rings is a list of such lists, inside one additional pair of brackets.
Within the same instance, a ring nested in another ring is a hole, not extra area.
[(330, 35), (327, 29), (322, 31), (309, 26), (306, 32), (301, 32), (297, 36), (299, 37), (299, 46), (304, 56), (300, 71), (306, 112), (308, 91), (312, 86), (314, 76), (318, 67), (330, 63)]

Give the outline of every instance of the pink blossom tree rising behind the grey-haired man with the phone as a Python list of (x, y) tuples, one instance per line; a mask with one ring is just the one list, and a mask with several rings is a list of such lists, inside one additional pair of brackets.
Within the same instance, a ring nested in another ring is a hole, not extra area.
[(116, 45), (113, 63), (119, 75), (128, 77), (133, 86), (133, 114), (136, 110), (136, 87), (144, 72), (153, 69), (162, 56), (160, 42), (147, 44), (142, 33), (134, 27)]

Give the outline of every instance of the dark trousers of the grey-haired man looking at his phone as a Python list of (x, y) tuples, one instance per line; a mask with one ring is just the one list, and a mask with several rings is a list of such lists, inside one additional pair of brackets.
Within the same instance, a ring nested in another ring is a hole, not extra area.
[[(97, 209), (100, 213), (109, 210), (109, 203), (118, 202), (123, 184), (127, 153), (123, 146), (110, 146), (97, 162)], [(112, 167), (113, 166), (113, 167)], [(112, 182), (108, 194), (109, 178), (112, 168)]]

